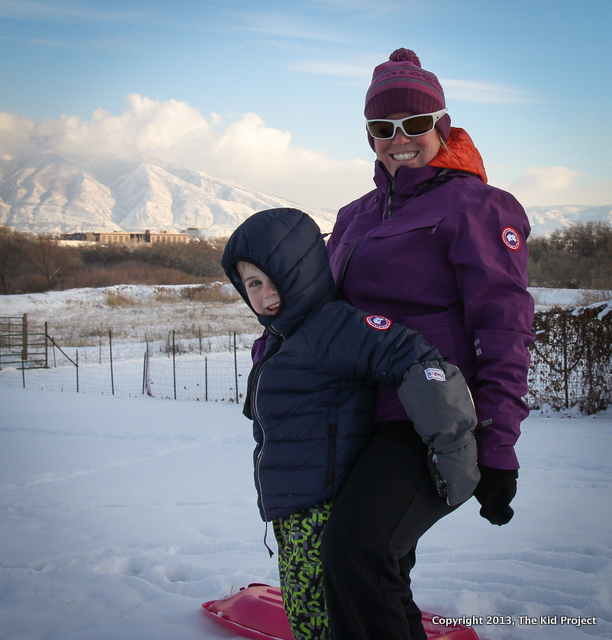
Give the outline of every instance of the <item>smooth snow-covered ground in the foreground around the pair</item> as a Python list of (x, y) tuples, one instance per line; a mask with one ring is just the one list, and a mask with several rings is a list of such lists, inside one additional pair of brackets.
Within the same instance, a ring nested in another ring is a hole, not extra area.
[[(240, 406), (0, 386), (0, 407), (3, 640), (227, 640), (201, 603), (278, 584)], [(514, 519), (472, 499), (439, 522), (415, 598), (490, 616), (483, 640), (611, 638), (612, 410), (532, 412), (517, 450)]]

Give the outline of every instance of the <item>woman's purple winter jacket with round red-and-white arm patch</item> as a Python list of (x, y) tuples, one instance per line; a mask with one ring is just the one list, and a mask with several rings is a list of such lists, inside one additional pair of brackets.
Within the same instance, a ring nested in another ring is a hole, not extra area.
[[(516, 199), (465, 172), (376, 163), (376, 189), (340, 210), (328, 243), (351, 304), (420, 331), (468, 381), (479, 462), (517, 469), (528, 409), (533, 300), (527, 216)], [(396, 389), (378, 390), (377, 421), (406, 419)]]

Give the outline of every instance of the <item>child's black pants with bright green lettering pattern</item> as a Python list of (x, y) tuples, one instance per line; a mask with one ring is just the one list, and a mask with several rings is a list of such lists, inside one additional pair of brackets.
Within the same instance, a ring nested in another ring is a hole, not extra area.
[(283, 604), (295, 640), (329, 640), (321, 535), (332, 501), (273, 522)]

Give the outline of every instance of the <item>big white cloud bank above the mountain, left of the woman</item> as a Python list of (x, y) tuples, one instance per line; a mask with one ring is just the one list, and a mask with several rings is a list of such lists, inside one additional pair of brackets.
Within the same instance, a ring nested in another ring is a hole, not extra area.
[(119, 116), (97, 109), (90, 121), (62, 116), (35, 122), (0, 114), (0, 151), (148, 155), (326, 209), (372, 187), (370, 162), (338, 161), (296, 147), (288, 131), (267, 126), (254, 113), (205, 118), (187, 102), (137, 94), (127, 96), (126, 105)]

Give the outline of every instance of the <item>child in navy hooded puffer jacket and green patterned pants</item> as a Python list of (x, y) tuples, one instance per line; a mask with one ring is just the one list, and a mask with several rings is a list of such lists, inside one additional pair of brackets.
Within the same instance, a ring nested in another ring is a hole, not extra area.
[(273, 522), (283, 602), (296, 639), (327, 639), (320, 540), (373, 433), (375, 383), (399, 387), (449, 505), (467, 500), (479, 479), (473, 403), (459, 370), (418, 332), (334, 300), (323, 236), (307, 214), (254, 214), (232, 234), (222, 265), (266, 328), (254, 345), (244, 413), (253, 420), (258, 506)]

